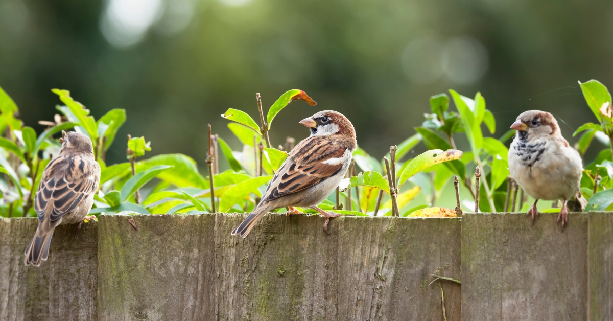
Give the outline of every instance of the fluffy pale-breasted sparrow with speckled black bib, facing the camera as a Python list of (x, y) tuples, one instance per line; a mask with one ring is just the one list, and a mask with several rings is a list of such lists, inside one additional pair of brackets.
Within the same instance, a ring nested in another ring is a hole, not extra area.
[(587, 200), (581, 196), (582, 162), (579, 152), (568, 145), (554, 116), (541, 110), (528, 110), (511, 126), (517, 134), (509, 149), (511, 177), (536, 199), (528, 215), (534, 223), (539, 199), (561, 199), (558, 222), (568, 222), (568, 211), (583, 211)]

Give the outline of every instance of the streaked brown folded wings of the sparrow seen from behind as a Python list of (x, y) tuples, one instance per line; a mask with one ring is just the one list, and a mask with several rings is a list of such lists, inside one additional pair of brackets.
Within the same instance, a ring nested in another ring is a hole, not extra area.
[(91, 193), (95, 193), (100, 180), (100, 167), (96, 161), (80, 156), (59, 156), (52, 160), (40, 179), (34, 198), (34, 209), (39, 220), (55, 221), (74, 211)]

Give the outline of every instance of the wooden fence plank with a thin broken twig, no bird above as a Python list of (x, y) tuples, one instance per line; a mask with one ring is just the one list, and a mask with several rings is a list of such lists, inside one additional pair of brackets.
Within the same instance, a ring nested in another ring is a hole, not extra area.
[[(339, 319), (442, 320), (430, 274), (460, 278), (459, 240), (459, 219), (341, 219)], [(447, 320), (459, 320), (460, 286), (443, 285)]]

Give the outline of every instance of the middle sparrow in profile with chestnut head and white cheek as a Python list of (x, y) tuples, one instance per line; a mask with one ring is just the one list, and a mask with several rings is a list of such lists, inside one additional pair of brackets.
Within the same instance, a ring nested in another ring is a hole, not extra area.
[(262, 200), (254, 211), (232, 231), (243, 238), (256, 222), (269, 211), (289, 206), (287, 214), (300, 213), (294, 206), (311, 207), (326, 217), (341, 214), (326, 212), (317, 205), (338, 187), (356, 150), (356, 131), (349, 120), (338, 112), (324, 110), (299, 122), (311, 128), (311, 135), (301, 141), (276, 172)]

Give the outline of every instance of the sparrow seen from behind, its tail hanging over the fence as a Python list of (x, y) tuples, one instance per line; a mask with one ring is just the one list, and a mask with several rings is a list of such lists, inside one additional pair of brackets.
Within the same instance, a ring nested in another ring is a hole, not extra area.
[(55, 226), (81, 226), (100, 183), (100, 166), (94, 158), (91, 139), (81, 133), (62, 134), (59, 155), (47, 164), (34, 196), (39, 225), (26, 248), (25, 265), (39, 266), (41, 260), (47, 260)]

